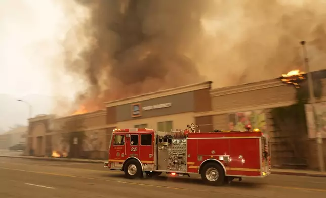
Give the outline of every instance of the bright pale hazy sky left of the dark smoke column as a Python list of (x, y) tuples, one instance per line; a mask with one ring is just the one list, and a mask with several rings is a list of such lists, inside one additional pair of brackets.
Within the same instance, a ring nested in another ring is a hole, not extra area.
[[(0, 129), (27, 123), (27, 107), (16, 98), (31, 100), (35, 115), (50, 113), (55, 100), (45, 96), (73, 98), (78, 91), (71, 76), (64, 74), (61, 56), (62, 39), (77, 21), (64, 15), (60, 2), (0, 1), (0, 100), (6, 101), (0, 104)], [(67, 2), (73, 6), (74, 1)], [(23, 116), (12, 115), (10, 108)]]

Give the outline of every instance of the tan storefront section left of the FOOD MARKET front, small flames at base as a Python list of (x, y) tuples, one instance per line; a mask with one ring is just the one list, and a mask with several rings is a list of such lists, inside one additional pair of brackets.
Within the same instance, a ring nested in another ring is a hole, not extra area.
[(106, 159), (107, 134), (114, 128), (106, 124), (105, 110), (60, 118), (37, 116), (29, 119), (26, 154)]

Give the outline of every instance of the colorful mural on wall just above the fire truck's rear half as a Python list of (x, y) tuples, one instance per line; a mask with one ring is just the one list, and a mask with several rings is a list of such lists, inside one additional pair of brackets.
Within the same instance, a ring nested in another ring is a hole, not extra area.
[(229, 114), (229, 130), (245, 131), (245, 126), (251, 125), (253, 129), (266, 132), (266, 116), (264, 110), (237, 112)]

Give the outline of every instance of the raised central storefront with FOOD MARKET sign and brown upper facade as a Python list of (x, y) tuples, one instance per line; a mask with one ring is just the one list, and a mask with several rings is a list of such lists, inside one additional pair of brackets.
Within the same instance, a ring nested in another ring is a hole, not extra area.
[(211, 83), (209, 81), (108, 102), (107, 120), (110, 124), (116, 123), (118, 128), (171, 131), (197, 123), (201, 130), (209, 130), (212, 128), (211, 120), (195, 117), (194, 114), (211, 110)]

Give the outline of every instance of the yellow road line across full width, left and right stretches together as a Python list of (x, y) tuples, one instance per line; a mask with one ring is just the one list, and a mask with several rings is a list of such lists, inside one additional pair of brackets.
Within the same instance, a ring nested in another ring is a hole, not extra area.
[[(169, 187), (169, 186), (150, 185), (150, 184), (142, 184), (142, 183), (125, 182), (125, 181), (119, 181), (119, 180), (98, 179), (98, 178), (91, 178), (91, 177), (80, 177), (80, 176), (74, 176), (74, 175), (65, 175), (65, 174), (49, 173), (49, 172), (27, 171), (27, 170), (4, 168), (4, 167), (0, 167), (0, 169), (13, 170), (13, 171), (22, 171), (22, 172), (28, 172), (28, 173), (37, 173), (37, 174), (44, 174), (44, 175), (54, 175), (54, 176), (62, 176), (62, 177), (79, 178), (79, 179), (108, 181), (108, 182), (124, 183), (124, 184), (147, 186), (147, 187), (158, 187), (158, 188), (175, 189), (175, 190), (187, 190), (187, 191), (191, 190), (191, 189), (187, 189), (187, 188), (177, 188), (177, 187)], [(290, 186), (287, 187), (287, 186), (276, 186), (276, 185), (268, 185), (268, 184), (266, 186), (274, 187), (274, 188), (283, 188), (283, 189), (326, 192), (326, 189), (324, 190), (324, 189), (316, 189), (316, 188), (301, 188), (301, 187), (290, 187)]]

